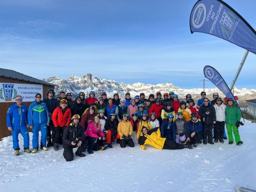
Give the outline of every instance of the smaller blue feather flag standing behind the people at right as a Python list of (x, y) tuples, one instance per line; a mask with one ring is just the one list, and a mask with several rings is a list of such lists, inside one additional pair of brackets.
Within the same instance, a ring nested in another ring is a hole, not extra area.
[(227, 98), (232, 98), (233, 101), (236, 101), (233, 93), (229, 89), (227, 83), (224, 81), (222, 76), (219, 74), (219, 72), (214, 69), (211, 66), (205, 66), (204, 67), (204, 76), (205, 78), (209, 79), (210, 82), (212, 82), (215, 86), (218, 87), (218, 89), (225, 94)]

